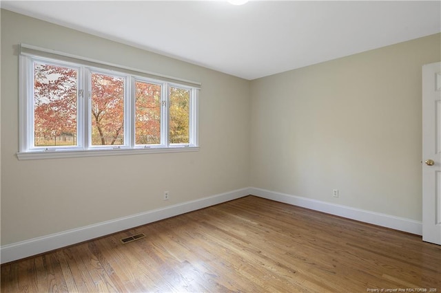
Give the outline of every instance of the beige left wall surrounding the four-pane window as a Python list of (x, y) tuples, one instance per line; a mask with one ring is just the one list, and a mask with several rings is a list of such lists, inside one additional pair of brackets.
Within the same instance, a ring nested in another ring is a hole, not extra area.
[[(201, 82), (201, 150), (17, 160), (19, 43)], [(1, 245), (248, 186), (247, 80), (1, 10), (1, 84)]]

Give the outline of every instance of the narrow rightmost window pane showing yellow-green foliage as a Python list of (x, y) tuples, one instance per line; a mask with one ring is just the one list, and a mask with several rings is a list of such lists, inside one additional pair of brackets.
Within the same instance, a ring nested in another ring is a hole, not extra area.
[(170, 87), (170, 143), (189, 143), (189, 89)]

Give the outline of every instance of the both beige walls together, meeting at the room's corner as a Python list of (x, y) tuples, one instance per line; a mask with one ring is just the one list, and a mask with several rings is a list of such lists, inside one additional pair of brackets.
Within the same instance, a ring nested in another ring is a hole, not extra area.
[[(1, 245), (247, 186), (420, 221), (421, 67), (440, 38), (249, 82), (1, 10)], [(200, 81), (201, 151), (17, 160), (19, 43)]]

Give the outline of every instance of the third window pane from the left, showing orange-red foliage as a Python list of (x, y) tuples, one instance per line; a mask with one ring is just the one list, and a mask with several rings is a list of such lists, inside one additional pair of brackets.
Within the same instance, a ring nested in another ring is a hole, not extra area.
[(161, 143), (161, 85), (135, 83), (135, 143)]

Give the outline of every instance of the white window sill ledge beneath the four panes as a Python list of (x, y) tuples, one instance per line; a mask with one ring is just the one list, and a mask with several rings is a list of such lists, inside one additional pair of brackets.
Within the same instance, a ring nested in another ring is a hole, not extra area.
[(105, 155), (141, 155), (145, 153), (183, 153), (189, 151), (199, 151), (198, 146), (174, 146), (168, 148), (150, 148), (150, 149), (100, 149), (87, 151), (30, 151), (19, 152), (19, 160), (42, 160), (59, 158), (83, 158), (83, 157), (101, 157)]

